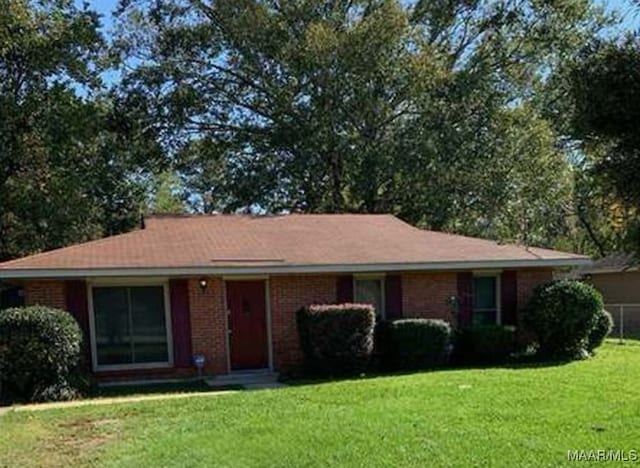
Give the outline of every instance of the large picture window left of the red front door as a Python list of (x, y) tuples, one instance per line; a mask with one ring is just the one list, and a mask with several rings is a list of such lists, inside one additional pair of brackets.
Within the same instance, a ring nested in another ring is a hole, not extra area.
[(170, 362), (163, 286), (92, 288), (97, 367)]

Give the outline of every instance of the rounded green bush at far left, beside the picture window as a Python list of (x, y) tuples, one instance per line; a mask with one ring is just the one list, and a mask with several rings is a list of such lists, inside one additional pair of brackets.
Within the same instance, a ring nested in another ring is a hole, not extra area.
[(82, 332), (63, 310), (44, 306), (0, 311), (0, 376), (5, 398), (69, 399)]

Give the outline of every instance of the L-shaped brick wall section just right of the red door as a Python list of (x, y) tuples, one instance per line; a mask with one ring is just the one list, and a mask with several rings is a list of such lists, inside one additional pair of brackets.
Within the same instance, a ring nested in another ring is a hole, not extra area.
[(296, 312), (310, 304), (336, 301), (336, 276), (272, 276), (269, 280), (273, 361), (278, 371), (302, 362)]

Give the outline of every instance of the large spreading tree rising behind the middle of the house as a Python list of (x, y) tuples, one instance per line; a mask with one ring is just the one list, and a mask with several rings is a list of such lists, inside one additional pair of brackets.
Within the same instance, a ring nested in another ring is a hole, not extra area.
[(124, 85), (149, 98), (201, 209), (384, 211), (547, 245), (569, 228), (548, 222), (569, 168), (527, 102), (603, 24), (586, 0), (123, 0), (119, 13)]

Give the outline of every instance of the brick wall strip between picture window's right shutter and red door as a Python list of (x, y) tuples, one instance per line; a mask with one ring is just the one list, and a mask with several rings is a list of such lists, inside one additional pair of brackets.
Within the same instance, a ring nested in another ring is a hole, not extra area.
[(205, 374), (228, 372), (225, 303), (221, 278), (208, 278), (204, 291), (198, 278), (189, 279), (191, 346), (194, 354), (204, 354)]

